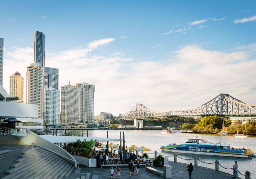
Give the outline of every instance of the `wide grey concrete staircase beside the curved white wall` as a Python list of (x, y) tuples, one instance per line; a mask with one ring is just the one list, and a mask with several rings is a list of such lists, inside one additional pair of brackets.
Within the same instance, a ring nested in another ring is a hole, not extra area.
[(27, 150), (15, 162), (2, 179), (62, 179), (75, 168), (61, 156), (42, 147)]

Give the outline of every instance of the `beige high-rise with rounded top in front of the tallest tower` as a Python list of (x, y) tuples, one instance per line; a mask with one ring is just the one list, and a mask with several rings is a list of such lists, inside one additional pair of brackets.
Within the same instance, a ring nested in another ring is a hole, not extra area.
[(26, 72), (26, 102), (38, 104), (38, 118), (43, 119), (44, 112), (44, 72), (41, 64), (33, 63)]

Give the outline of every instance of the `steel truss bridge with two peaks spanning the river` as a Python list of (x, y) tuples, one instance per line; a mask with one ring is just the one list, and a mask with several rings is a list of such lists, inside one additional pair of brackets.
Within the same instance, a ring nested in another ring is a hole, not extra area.
[(256, 106), (221, 93), (207, 103), (191, 110), (156, 112), (148, 109), (143, 104), (135, 104), (131, 110), (120, 116), (120, 118), (123, 120), (134, 120), (136, 128), (143, 128), (143, 120), (145, 119), (177, 116), (203, 117), (207, 115), (218, 115), (221, 117), (256, 116)]

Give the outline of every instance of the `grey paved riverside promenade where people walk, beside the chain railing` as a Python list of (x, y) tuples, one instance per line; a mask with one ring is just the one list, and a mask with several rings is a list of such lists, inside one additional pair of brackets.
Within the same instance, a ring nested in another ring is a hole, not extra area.
[[(189, 179), (189, 173), (186, 170), (188, 164), (176, 163), (169, 161), (169, 165), (172, 166), (172, 179)], [(153, 167), (153, 166), (151, 166)], [(90, 173), (90, 179), (108, 179), (110, 178), (110, 168), (89, 168), (83, 167), (80, 165), (79, 170), (74, 170), (70, 176), (66, 177), (67, 179), (76, 179), (81, 178), (81, 176), (86, 173)], [(163, 167), (155, 167), (158, 170), (163, 170)], [(116, 173), (116, 168), (114, 168)], [(136, 169), (134, 169), (134, 173), (136, 173)], [(204, 167), (196, 167), (194, 166), (194, 172), (192, 173), (192, 179), (230, 179), (232, 176), (227, 173), (217, 172), (215, 170), (204, 168)], [(116, 174), (114, 178), (117, 178)], [(140, 174), (137, 176), (136, 174), (130, 177), (129, 168), (121, 167), (121, 179), (163, 179), (163, 177), (158, 176), (157, 174), (153, 174), (150, 171), (145, 171), (145, 167), (140, 167)]]

